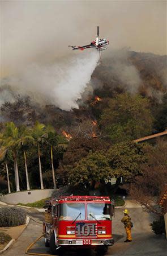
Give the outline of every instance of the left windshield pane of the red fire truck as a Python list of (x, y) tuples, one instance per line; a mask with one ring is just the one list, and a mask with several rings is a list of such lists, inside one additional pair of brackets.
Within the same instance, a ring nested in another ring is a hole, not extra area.
[(85, 204), (60, 204), (59, 216), (59, 220), (85, 220)]

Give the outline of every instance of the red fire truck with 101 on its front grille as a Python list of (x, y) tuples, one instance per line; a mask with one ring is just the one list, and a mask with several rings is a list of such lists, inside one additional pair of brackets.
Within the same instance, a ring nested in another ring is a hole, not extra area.
[(113, 245), (112, 216), (114, 200), (105, 196), (63, 196), (45, 202), (43, 234), (45, 246), (53, 254), (60, 247), (91, 247), (106, 251)]

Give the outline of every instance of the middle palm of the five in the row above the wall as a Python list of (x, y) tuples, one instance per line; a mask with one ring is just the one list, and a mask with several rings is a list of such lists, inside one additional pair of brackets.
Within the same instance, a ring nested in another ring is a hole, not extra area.
[(25, 129), (24, 126), (20, 127), (19, 134), (20, 134), (20, 146), (23, 150), (24, 154), (24, 163), (25, 163), (25, 176), (26, 176), (26, 183), (27, 183), (27, 190), (30, 190), (29, 186), (29, 179), (28, 179), (28, 169), (27, 169), (27, 149), (29, 146), (32, 146), (34, 143), (34, 138), (29, 135), (31, 130)]

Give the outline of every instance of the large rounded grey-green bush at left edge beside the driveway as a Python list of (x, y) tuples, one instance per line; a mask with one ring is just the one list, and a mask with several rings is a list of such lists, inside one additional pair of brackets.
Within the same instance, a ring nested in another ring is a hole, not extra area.
[(0, 227), (19, 226), (25, 224), (25, 210), (17, 207), (0, 208)]

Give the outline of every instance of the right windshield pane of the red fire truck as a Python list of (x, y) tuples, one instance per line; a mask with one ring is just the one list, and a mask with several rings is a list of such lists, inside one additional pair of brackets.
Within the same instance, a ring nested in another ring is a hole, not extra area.
[(110, 204), (87, 204), (88, 220), (111, 220)]

